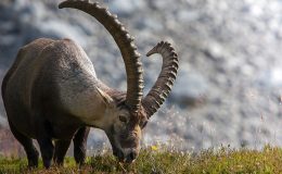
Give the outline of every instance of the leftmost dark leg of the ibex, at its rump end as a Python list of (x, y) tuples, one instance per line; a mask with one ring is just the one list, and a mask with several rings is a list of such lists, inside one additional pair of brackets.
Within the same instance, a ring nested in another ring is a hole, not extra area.
[(10, 121), (9, 121), (9, 125), (14, 137), (23, 145), (25, 149), (27, 160), (28, 160), (28, 166), (37, 167), (39, 153), (33, 142), (33, 139), (20, 133)]

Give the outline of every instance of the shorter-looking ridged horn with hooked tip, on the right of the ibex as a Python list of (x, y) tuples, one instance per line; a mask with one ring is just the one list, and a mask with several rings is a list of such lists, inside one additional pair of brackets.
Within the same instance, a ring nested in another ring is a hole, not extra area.
[(142, 100), (149, 117), (157, 111), (171, 91), (178, 71), (178, 55), (169, 42), (158, 42), (146, 55), (154, 53), (162, 54), (163, 66), (155, 85)]

